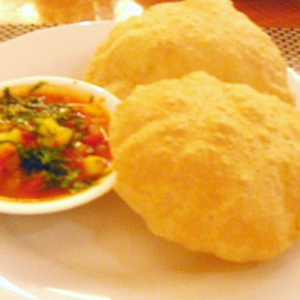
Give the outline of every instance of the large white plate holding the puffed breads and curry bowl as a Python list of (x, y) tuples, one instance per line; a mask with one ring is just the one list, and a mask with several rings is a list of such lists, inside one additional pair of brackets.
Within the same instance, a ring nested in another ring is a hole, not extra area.
[[(55, 27), (0, 44), (0, 80), (84, 78), (113, 23)], [(300, 97), (299, 76), (289, 70)], [(278, 259), (236, 265), (150, 234), (112, 192), (46, 216), (0, 215), (2, 300), (299, 300), (300, 242)]]

